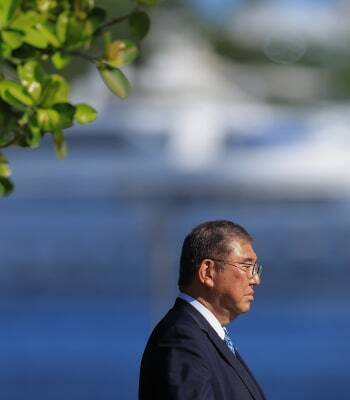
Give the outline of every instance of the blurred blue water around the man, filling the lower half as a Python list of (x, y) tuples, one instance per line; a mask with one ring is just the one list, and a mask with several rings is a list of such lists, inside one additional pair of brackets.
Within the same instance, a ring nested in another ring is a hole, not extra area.
[(348, 399), (350, 203), (67, 199), (0, 208), (1, 400), (136, 399), (181, 240), (213, 218), (247, 227), (264, 265), (230, 331), (268, 399)]

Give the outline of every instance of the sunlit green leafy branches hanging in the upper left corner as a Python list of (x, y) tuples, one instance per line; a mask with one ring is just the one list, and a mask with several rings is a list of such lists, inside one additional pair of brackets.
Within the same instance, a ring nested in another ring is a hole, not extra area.
[[(130, 84), (122, 68), (136, 59), (139, 42), (150, 28), (142, 7), (158, 2), (135, 0), (129, 14), (106, 21), (106, 11), (95, 0), (1, 0), (0, 149), (35, 149), (51, 134), (57, 156), (64, 158), (64, 130), (75, 122), (94, 121), (97, 113), (88, 104), (70, 103), (69, 84), (59, 71), (73, 57), (82, 57), (96, 65), (115, 95), (127, 97)], [(130, 39), (112, 38), (107, 28), (122, 22), (128, 23)], [(103, 49), (93, 57), (88, 51), (101, 35)], [(0, 152), (0, 196), (13, 190), (10, 176)]]

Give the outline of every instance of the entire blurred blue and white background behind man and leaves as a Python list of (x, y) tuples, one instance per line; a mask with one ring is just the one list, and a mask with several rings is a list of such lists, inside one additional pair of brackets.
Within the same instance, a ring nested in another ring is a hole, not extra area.
[(173, 0), (126, 71), (129, 99), (88, 65), (67, 71), (98, 120), (67, 132), (64, 162), (49, 142), (6, 152), (2, 399), (136, 399), (182, 240), (222, 218), (264, 265), (230, 331), (267, 398), (348, 399), (349, 20), (345, 0)]

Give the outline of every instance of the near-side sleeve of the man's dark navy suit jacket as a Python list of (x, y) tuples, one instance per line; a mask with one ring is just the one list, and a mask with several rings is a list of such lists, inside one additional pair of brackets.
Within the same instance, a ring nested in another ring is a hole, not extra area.
[(176, 327), (158, 347), (161, 398), (215, 400), (205, 343), (188, 327)]

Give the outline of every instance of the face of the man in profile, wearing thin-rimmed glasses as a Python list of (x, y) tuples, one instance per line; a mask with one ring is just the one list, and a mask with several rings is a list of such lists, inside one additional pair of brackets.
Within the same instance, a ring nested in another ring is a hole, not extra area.
[(254, 301), (254, 287), (260, 284), (260, 278), (258, 275), (252, 277), (251, 269), (244, 268), (244, 264), (254, 264), (257, 261), (251, 243), (232, 240), (230, 247), (230, 254), (222, 258), (226, 261), (224, 268), (216, 269), (214, 291), (217, 307), (232, 321), (237, 315), (250, 310)]

